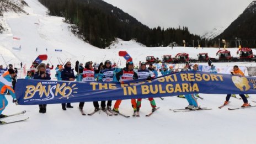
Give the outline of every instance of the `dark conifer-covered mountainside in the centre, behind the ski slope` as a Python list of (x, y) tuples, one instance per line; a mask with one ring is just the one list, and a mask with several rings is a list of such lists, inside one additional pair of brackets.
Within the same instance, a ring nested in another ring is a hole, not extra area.
[[(179, 28), (150, 29), (131, 15), (102, 0), (39, 0), (49, 9), (49, 14), (65, 17), (74, 24), (73, 31), (84, 41), (103, 48), (111, 45), (116, 38), (125, 41), (135, 39), (146, 46), (168, 46), (171, 42), (182, 45), (182, 41), (200, 39), (190, 34), (185, 26)], [(187, 44), (191, 45), (191, 44)]]

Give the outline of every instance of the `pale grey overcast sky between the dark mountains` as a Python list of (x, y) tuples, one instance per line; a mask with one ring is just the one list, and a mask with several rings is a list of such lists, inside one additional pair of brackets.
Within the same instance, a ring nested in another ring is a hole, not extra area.
[(154, 28), (187, 26), (191, 33), (227, 28), (253, 0), (103, 0)]

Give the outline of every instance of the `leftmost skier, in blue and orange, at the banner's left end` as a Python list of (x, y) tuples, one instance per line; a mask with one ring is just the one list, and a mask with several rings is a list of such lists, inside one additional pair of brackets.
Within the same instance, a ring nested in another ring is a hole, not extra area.
[[(6, 97), (4, 96), (6, 94), (7, 89), (10, 92), (10, 95), (12, 95), (13, 103), (18, 105), (16, 95), (14, 93), (14, 90), (12, 88), (12, 78), (15, 76), (15, 71), (13, 69), (9, 69), (6, 73), (4, 73), (0, 77), (0, 118), (6, 117), (6, 115), (3, 115), (2, 112), (4, 109), (6, 109), (6, 106), (8, 105), (8, 101)], [(4, 124), (6, 122), (0, 121), (0, 124)]]

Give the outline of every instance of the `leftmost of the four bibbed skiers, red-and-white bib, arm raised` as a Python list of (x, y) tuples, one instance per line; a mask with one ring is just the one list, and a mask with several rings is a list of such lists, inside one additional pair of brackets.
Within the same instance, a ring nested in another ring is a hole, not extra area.
[[(103, 63), (100, 63), (100, 66), (102, 66), (102, 65), (103, 65)], [(83, 80), (82, 81), (94, 82), (95, 81), (95, 73), (99, 73), (100, 66), (98, 67), (98, 70), (94, 70), (93, 62), (92, 61), (86, 62), (86, 66), (84, 66), (84, 70), (83, 70)], [(95, 107), (94, 111), (98, 111), (99, 106), (97, 105), (97, 103), (93, 102), (93, 105)], [(81, 111), (83, 110), (83, 106), (84, 106), (84, 102), (80, 102), (79, 109)]]

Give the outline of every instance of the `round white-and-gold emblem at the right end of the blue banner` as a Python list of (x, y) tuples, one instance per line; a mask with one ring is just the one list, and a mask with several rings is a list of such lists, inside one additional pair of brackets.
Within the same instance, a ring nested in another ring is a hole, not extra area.
[(249, 81), (246, 77), (233, 76), (232, 82), (241, 91), (247, 91), (250, 89)]

